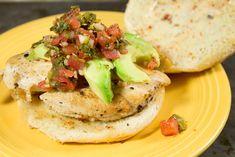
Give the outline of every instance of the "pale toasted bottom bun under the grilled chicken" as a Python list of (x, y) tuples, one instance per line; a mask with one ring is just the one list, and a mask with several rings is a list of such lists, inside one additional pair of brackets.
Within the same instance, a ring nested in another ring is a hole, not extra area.
[(160, 109), (164, 94), (162, 87), (141, 112), (112, 122), (84, 122), (64, 117), (39, 100), (32, 103), (19, 100), (18, 104), (31, 127), (59, 142), (105, 143), (130, 138), (149, 125)]

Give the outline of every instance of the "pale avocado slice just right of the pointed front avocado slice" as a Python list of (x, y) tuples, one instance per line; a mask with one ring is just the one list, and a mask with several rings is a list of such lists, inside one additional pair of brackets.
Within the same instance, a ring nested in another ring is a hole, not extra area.
[(149, 82), (149, 76), (140, 70), (132, 61), (131, 54), (121, 55), (119, 59), (113, 61), (117, 75), (126, 82)]

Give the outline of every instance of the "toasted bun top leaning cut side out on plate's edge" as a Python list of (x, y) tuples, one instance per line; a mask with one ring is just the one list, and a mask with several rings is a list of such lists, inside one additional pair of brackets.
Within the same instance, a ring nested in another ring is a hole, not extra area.
[(125, 25), (154, 45), (167, 73), (202, 71), (235, 52), (234, 1), (130, 0)]

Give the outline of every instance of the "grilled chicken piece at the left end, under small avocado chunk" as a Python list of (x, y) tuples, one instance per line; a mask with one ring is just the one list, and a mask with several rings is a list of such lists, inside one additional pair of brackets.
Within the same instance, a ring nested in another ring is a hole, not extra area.
[(51, 66), (50, 62), (28, 61), (24, 54), (18, 54), (7, 61), (3, 81), (7, 88), (13, 90), (14, 97), (31, 101), (32, 87), (45, 80)]

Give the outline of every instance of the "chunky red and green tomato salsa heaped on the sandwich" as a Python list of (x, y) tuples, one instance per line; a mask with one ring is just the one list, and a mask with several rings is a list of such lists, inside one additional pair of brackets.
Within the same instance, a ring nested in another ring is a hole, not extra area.
[[(128, 53), (128, 41), (123, 38), (118, 24), (107, 27), (95, 14), (81, 13), (78, 6), (57, 18), (50, 30), (56, 35), (45, 36), (32, 45), (35, 49), (43, 44), (46, 48), (44, 59), (52, 63), (48, 78), (38, 84), (42, 91), (73, 91), (86, 84), (83, 68), (89, 60), (116, 60)], [(146, 64), (149, 69), (156, 66), (154, 59)]]

